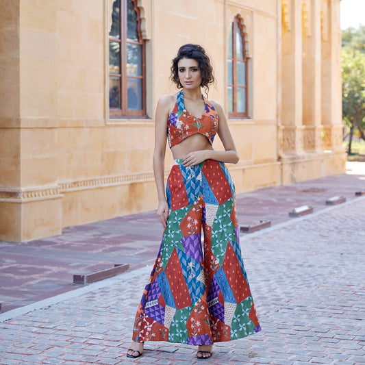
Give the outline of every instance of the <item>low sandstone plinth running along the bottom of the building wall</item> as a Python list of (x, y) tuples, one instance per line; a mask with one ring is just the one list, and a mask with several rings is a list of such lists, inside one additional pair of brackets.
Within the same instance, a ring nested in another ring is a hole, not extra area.
[[(280, 162), (229, 165), (236, 192), (294, 184), (344, 173), (342, 151), (285, 155)], [(62, 228), (154, 210), (153, 173), (59, 181), (55, 186), (3, 191), (0, 240), (27, 241), (62, 233)]]

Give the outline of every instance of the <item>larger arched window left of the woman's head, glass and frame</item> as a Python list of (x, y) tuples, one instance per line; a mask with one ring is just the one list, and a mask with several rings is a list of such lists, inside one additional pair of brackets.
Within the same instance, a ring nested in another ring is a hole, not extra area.
[(144, 116), (144, 40), (135, 0), (115, 0), (109, 32), (110, 116)]

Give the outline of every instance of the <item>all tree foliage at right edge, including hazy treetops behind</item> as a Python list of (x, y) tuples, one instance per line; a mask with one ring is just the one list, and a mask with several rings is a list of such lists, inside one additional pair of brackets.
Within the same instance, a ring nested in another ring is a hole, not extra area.
[(365, 26), (342, 31), (342, 118), (353, 134), (365, 140)]

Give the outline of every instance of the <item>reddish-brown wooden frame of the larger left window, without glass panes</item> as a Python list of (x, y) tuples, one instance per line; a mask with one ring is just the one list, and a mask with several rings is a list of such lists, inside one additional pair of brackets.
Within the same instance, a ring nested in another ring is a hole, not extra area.
[[(127, 9), (128, 1), (134, 5), (134, 11), (136, 12), (137, 18), (137, 34), (138, 42), (127, 39)], [(112, 108), (109, 103), (109, 115), (110, 118), (136, 118), (146, 116), (146, 46), (145, 41), (142, 38), (142, 32), (140, 29), (140, 10), (138, 9), (136, 0), (120, 0), (120, 12), (119, 12), (119, 34), (120, 38), (109, 35), (109, 42), (118, 42), (120, 45), (120, 73), (111, 73), (109, 70), (109, 81), (113, 77), (119, 78), (120, 87), (120, 98), (121, 105), (120, 108)], [(141, 46), (141, 76), (127, 75), (127, 45), (140, 45)], [(127, 96), (127, 81), (129, 78), (142, 79), (142, 109), (139, 110), (128, 110), (128, 96)], [(108, 90), (110, 92), (110, 88)]]

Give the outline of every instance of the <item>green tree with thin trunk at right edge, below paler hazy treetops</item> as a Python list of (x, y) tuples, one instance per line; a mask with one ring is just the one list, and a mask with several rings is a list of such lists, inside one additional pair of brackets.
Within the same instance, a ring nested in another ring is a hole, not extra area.
[(357, 129), (365, 140), (365, 53), (342, 49), (342, 118), (349, 127), (349, 149)]

